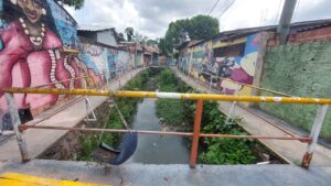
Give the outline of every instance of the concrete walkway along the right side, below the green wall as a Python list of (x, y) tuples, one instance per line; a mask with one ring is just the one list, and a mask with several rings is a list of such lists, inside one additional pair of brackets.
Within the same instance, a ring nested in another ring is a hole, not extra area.
[[(200, 91), (220, 94), (214, 90), (211, 90), (202, 85), (196, 85), (195, 79), (188, 77), (181, 73), (178, 68), (173, 68), (177, 72), (177, 75), (184, 80), (191, 87), (197, 88)], [(228, 114), (232, 102), (220, 101), (220, 110), (225, 114)], [(254, 135), (273, 135), (273, 136), (290, 136), (280, 129), (271, 125), (265, 120), (252, 114), (247, 110), (244, 110), (241, 107), (236, 107), (236, 116), (243, 118), (239, 124), (250, 134)], [(273, 121), (274, 123), (277, 121)], [(307, 143), (301, 143), (300, 141), (286, 141), (286, 140), (260, 140), (266, 146), (268, 146), (276, 154), (285, 158), (287, 162), (291, 163), (301, 163), (302, 156), (307, 150)], [(322, 145), (318, 145), (311, 165), (322, 165), (331, 166), (331, 150)]]

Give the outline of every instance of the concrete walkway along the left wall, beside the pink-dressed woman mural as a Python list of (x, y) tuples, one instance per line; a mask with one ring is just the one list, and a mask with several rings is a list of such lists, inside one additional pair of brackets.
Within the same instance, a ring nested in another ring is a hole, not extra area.
[[(136, 69), (129, 73), (121, 75), (120, 84), (121, 86), (125, 85), (129, 79), (136, 76), (142, 69)], [(116, 90), (119, 88), (118, 80), (110, 81), (107, 89)], [(100, 106), (107, 97), (88, 97), (93, 109)], [(51, 112), (51, 111), (47, 111)], [(45, 117), (45, 116), (40, 116)], [(85, 109), (85, 101), (76, 102), (75, 105), (71, 106), (70, 108), (50, 117), (49, 119), (39, 122), (38, 125), (58, 125), (58, 127), (75, 127), (81, 121), (86, 118), (86, 109)], [(35, 118), (39, 120), (39, 117)], [(50, 147), (53, 143), (60, 140), (63, 135), (65, 135), (67, 131), (61, 130), (33, 130), (29, 129), (24, 131), (23, 139), (28, 145), (29, 157), (34, 158), (47, 147)], [(18, 147), (17, 140), (11, 138), (6, 142), (0, 144), (0, 169), (1, 167), (11, 162), (20, 162), (21, 156)]]

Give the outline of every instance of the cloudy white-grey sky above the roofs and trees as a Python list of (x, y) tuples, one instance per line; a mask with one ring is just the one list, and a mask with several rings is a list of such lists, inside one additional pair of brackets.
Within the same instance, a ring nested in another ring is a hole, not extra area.
[[(209, 14), (217, 0), (85, 1), (84, 8), (78, 11), (67, 8), (79, 24), (110, 26), (118, 32), (132, 26), (135, 31), (149, 37), (161, 37), (171, 21)], [(211, 15), (220, 20), (221, 31), (276, 24), (284, 1), (220, 0)], [(227, 7), (229, 8), (223, 13)], [(330, 8), (330, 0), (298, 0), (293, 21), (331, 19)]]

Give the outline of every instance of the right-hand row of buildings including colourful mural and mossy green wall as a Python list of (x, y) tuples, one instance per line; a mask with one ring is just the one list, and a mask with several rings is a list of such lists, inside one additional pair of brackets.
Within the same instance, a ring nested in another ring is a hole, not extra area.
[[(330, 97), (331, 20), (292, 23), (289, 31), (285, 44), (279, 44), (277, 25), (221, 32), (190, 46), (184, 43), (179, 47), (178, 66), (224, 95), (279, 96), (277, 91), (292, 97)], [(311, 130), (311, 119), (317, 113), (314, 106), (249, 106), (306, 131)], [(321, 132), (328, 140), (331, 139), (330, 117), (331, 110)]]

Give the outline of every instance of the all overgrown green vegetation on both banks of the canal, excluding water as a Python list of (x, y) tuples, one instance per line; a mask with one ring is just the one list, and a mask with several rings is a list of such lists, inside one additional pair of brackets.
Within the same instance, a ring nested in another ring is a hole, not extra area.
[[(157, 79), (158, 83), (154, 83)], [(169, 68), (153, 68), (142, 72), (139, 76), (130, 80), (125, 89), (141, 90), (145, 85), (159, 84), (160, 91), (178, 91), (192, 92), (193, 89), (185, 83), (181, 81)], [(153, 87), (154, 89), (156, 87)], [(131, 123), (135, 116), (137, 103), (140, 99), (121, 98), (116, 99), (126, 120)], [(247, 135), (247, 133), (236, 124), (225, 124), (226, 116), (223, 114), (215, 101), (204, 101), (203, 116), (201, 123), (202, 133), (224, 133)], [(195, 101), (192, 100), (174, 100), (174, 99), (158, 99), (157, 113), (163, 119), (163, 127), (172, 127), (175, 131), (192, 131), (194, 123)], [(111, 109), (109, 117), (106, 119), (106, 128), (124, 129), (124, 124), (115, 109)], [(98, 125), (103, 128), (104, 124)], [(78, 155), (74, 155), (74, 160), (92, 161), (92, 153), (99, 143), (99, 133), (83, 133), (79, 138), (82, 150)], [(185, 138), (188, 142), (192, 138)], [(111, 146), (117, 146), (121, 140), (121, 134), (104, 133), (103, 141)], [(191, 143), (188, 143), (190, 145)], [(235, 140), (226, 138), (202, 138), (200, 140), (200, 163), (204, 164), (253, 164), (264, 160), (264, 155), (271, 156), (267, 150), (255, 140)], [(268, 160), (267, 160), (268, 161)], [(278, 161), (277, 161), (278, 162)], [(278, 162), (279, 163), (279, 162)]]

